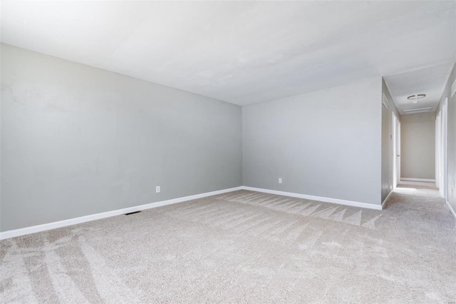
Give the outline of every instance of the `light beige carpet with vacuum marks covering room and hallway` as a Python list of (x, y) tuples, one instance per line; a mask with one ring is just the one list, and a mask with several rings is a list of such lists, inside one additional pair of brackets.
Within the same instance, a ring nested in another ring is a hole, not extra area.
[(1, 302), (454, 303), (443, 199), (386, 207), (237, 191), (2, 240)]

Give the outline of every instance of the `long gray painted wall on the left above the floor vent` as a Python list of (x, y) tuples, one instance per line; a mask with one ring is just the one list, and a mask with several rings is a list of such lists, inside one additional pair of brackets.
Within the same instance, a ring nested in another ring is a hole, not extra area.
[(1, 231), (242, 186), (239, 106), (6, 44), (0, 72)]

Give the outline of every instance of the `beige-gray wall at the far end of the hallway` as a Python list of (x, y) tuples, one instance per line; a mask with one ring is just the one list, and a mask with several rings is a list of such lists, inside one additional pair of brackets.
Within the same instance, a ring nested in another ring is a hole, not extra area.
[(400, 116), (400, 177), (435, 179), (435, 112)]

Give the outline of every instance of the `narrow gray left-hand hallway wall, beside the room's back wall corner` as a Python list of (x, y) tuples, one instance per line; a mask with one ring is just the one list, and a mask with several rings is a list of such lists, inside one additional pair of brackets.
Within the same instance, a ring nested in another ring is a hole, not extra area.
[[(383, 106), (383, 95), (385, 96), (385, 106)], [(396, 108), (393, 97), (382, 79), (382, 99), (380, 106), (382, 107), (382, 197), (381, 201), (385, 201), (391, 191), (393, 191), (393, 113), (400, 119), (398, 108)]]

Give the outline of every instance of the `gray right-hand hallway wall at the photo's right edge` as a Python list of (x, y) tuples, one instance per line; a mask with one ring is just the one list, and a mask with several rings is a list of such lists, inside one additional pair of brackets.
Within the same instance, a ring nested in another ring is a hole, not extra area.
[(448, 203), (453, 211), (456, 211), (456, 93), (451, 95), (451, 86), (456, 79), (456, 64), (453, 66), (450, 77), (448, 78), (445, 89), (440, 98), (439, 108), (441, 110), (442, 103), (445, 98), (448, 98)]

